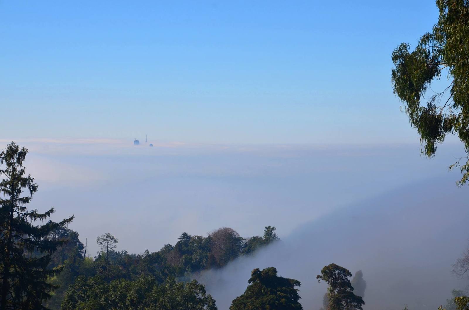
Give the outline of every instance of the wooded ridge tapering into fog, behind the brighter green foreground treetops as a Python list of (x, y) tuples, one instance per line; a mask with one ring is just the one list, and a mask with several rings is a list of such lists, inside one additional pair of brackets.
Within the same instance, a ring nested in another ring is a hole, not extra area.
[[(208, 236), (190, 236), (183, 232), (174, 245), (165, 244), (156, 252), (130, 254), (127, 251), (115, 251), (113, 248), (118, 244), (118, 239), (107, 233), (97, 238), (101, 251), (92, 258), (90, 253), (85, 254), (85, 246), (76, 231), (60, 229), (51, 238), (68, 240), (53, 254), (50, 265), (50, 268), (63, 267), (60, 274), (51, 278), (50, 282), (59, 287), (45, 303), (46, 307), (54, 310), (61, 309), (66, 295), (64, 309), (75, 309), (76, 304), (71, 300), (76, 300), (76, 295), (82, 294), (89, 286), (112, 291), (118, 289), (117, 283), (134, 287), (142, 281), (150, 281), (152, 285), (166, 281), (165, 285), (170, 285), (171, 291), (177, 291), (176, 288), (183, 291), (182, 287), (172, 282), (174, 279), (189, 280), (191, 273), (223, 267), (234, 258), (250, 255), (279, 239), (275, 227), (271, 226), (265, 227), (264, 236), (249, 238), (242, 238), (234, 229), (224, 227), (212, 231)], [(203, 290), (203, 286), (191, 283), (187, 285)], [(89, 292), (87, 298), (91, 298), (92, 294)]]

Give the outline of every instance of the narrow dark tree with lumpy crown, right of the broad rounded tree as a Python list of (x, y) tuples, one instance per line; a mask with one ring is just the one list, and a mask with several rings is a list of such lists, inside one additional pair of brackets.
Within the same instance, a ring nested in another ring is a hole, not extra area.
[(329, 285), (327, 288), (327, 299), (329, 301), (327, 310), (363, 309), (362, 297), (354, 294), (354, 288), (348, 280), (351, 276), (352, 273), (346, 268), (330, 264), (324, 266), (321, 274), (316, 277), (318, 282), (324, 280)]

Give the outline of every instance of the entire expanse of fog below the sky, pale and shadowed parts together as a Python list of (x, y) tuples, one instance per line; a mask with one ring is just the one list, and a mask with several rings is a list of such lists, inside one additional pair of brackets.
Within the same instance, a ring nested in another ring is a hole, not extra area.
[[(469, 238), (467, 188), (447, 166), (459, 145), (434, 160), (419, 145), (196, 145), (125, 140), (16, 140), (28, 147), (39, 191), (30, 207), (75, 214), (88, 239), (111, 232), (118, 250), (174, 244), (186, 231), (232, 227), (242, 236), (277, 227), (282, 242), (197, 275), (220, 310), (242, 294), (253, 268), (275, 266), (302, 282), (305, 310), (320, 308), (316, 275), (337, 263), (368, 283), (365, 309), (436, 309), (465, 281), (451, 264)], [(9, 141), (3, 140), (4, 145)]]

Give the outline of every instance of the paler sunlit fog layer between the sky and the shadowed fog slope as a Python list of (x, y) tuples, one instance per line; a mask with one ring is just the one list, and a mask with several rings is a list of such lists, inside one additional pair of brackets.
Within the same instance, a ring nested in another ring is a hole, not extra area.
[[(3, 141), (6, 145), (8, 141)], [(462, 148), (419, 145), (189, 145), (123, 140), (17, 140), (30, 149), (28, 172), (39, 191), (30, 207), (75, 214), (71, 229), (88, 238), (111, 232), (118, 250), (140, 253), (174, 244), (186, 231), (228, 226), (242, 236), (265, 225), (285, 239), (299, 225), (392, 188), (459, 174), (447, 166)]]

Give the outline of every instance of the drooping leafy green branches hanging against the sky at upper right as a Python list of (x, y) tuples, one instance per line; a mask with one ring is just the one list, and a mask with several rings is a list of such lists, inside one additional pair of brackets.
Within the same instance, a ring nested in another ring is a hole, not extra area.
[[(411, 125), (424, 144), (422, 153), (435, 154), (437, 144), (447, 134), (456, 134), (469, 154), (469, 2), (437, 0), (439, 19), (431, 33), (424, 34), (414, 51), (402, 43), (393, 52), (394, 93), (405, 103)], [(446, 74), (448, 83), (441, 92), (431, 95), (431, 84)], [(425, 97), (424, 97), (425, 96)], [(422, 104), (422, 99), (426, 103)], [(425, 100), (425, 99), (424, 99)], [(469, 161), (459, 167), (467, 183)]]

